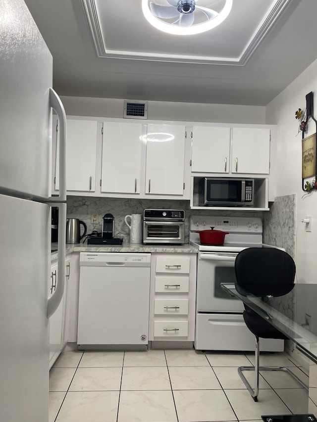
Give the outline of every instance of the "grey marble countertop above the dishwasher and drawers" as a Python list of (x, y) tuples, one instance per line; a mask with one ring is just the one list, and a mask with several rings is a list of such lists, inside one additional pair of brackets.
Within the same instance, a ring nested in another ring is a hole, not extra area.
[[(51, 259), (57, 259), (57, 243), (52, 243)], [(145, 245), (143, 243), (123, 243), (122, 245), (87, 245), (87, 243), (66, 244), (66, 255), (72, 252), (149, 252), (149, 253), (197, 253), (198, 248), (183, 245)]]

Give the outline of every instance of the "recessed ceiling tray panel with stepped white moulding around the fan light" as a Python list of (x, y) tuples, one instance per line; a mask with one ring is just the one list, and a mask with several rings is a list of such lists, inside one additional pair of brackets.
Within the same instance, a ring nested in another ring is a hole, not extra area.
[[(216, 28), (175, 36), (147, 22), (141, 1), (127, 6), (126, 0), (116, 0), (109, 6), (105, 0), (82, 0), (98, 57), (239, 66), (252, 56), (290, 2), (234, 0), (229, 16)], [(156, 3), (168, 5), (166, 0)], [(205, 7), (213, 3), (197, 0)]]

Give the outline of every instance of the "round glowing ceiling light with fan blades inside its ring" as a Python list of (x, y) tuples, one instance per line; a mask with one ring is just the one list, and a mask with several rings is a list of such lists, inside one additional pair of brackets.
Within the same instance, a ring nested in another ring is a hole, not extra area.
[[(209, 31), (218, 26), (229, 15), (233, 0), (224, 0), (223, 8), (217, 12), (196, 4), (196, 0), (165, 0), (169, 5), (142, 0), (143, 14), (155, 28), (174, 35), (192, 35)], [(218, 2), (218, 1), (217, 1)], [(203, 12), (207, 20), (194, 24), (195, 12)], [(168, 22), (178, 18), (174, 22)], [(161, 20), (164, 19), (164, 20)]]

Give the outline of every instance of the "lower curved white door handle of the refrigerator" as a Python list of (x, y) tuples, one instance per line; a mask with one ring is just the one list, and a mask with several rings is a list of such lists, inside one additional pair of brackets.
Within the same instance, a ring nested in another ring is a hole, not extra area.
[(54, 203), (58, 207), (58, 243), (57, 243), (57, 286), (53, 296), (48, 300), (48, 318), (58, 308), (65, 287), (65, 255), (66, 255), (66, 204)]

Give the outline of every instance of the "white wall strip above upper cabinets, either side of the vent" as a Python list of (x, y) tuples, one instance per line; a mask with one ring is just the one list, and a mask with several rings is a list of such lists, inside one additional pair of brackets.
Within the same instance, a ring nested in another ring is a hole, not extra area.
[[(136, 99), (136, 98), (134, 98)], [(72, 116), (123, 117), (123, 99), (61, 96), (66, 114)], [(210, 123), (265, 123), (265, 107), (189, 102), (148, 102), (149, 120)]]

